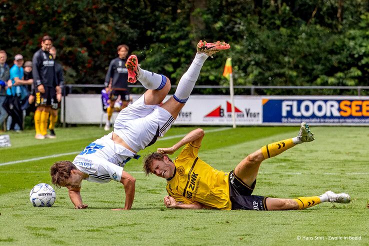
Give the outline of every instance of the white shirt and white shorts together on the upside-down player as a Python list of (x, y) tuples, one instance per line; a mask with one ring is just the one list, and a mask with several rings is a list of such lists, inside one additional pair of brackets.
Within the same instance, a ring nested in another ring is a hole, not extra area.
[[(173, 116), (159, 105), (144, 104), (144, 96), (122, 109), (115, 119), (114, 133), (135, 152), (153, 144), (163, 136), (174, 121)], [(125, 163), (139, 155), (111, 140), (112, 132), (84, 148), (73, 160), (78, 170), (87, 173), (88, 181), (120, 181)]]

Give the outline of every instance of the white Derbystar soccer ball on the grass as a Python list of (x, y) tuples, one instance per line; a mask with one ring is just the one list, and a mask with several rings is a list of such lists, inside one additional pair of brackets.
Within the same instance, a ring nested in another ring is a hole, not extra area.
[(36, 184), (29, 192), (29, 200), (33, 206), (52, 206), (55, 198), (55, 190), (47, 183)]

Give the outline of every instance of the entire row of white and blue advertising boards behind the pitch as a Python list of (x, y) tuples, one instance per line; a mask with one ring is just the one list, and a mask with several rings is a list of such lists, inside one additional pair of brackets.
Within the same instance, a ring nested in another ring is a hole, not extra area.
[[(133, 100), (139, 96), (132, 94)], [(69, 94), (65, 96), (65, 109), (66, 123), (102, 124), (106, 120), (98, 94)], [(297, 125), (302, 121), (315, 125), (369, 125), (369, 96), (236, 95), (234, 109), (236, 125)], [(173, 124), (232, 125), (230, 96), (191, 95)]]

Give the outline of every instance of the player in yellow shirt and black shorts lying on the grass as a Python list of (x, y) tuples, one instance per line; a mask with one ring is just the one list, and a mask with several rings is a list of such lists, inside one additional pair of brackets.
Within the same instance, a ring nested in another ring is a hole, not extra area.
[[(267, 144), (247, 155), (234, 170), (219, 171), (198, 158), (198, 149), (204, 136), (202, 129), (189, 132), (169, 148), (158, 148), (144, 160), (146, 174), (154, 173), (166, 178), (168, 195), (164, 204), (171, 208), (217, 208), (247, 210), (304, 209), (320, 202), (348, 203), (348, 194), (326, 191), (319, 196), (294, 199), (272, 198), (251, 195), (261, 162), (269, 157), (303, 142), (314, 140), (305, 122), (301, 123), (296, 137)], [(186, 145), (185, 145), (186, 144)], [(172, 161), (167, 154), (174, 153), (185, 145), (178, 157)]]

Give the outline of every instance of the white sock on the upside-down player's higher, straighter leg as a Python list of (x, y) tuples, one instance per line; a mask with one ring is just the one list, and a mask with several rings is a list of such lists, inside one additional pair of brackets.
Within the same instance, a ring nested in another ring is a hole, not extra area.
[(191, 65), (178, 82), (178, 86), (173, 95), (175, 100), (181, 103), (185, 103), (188, 100), (188, 97), (197, 81), (198, 75), (200, 74), (201, 67), (207, 57), (209, 56), (205, 53), (196, 53)]

